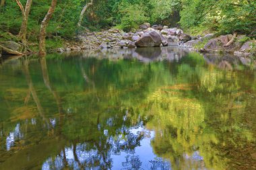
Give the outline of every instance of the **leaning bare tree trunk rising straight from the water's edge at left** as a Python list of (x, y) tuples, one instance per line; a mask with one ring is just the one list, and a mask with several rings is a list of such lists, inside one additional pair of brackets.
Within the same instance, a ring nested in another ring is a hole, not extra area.
[(39, 35), (39, 55), (40, 56), (44, 56), (46, 54), (45, 52), (46, 28), (51, 20), (51, 17), (53, 17), (53, 12), (55, 11), (56, 5), (57, 5), (57, 0), (52, 0), (51, 7), (49, 8), (49, 11), (45, 15), (44, 19), (42, 20), (42, 23), (40, 26), (40, 35)]

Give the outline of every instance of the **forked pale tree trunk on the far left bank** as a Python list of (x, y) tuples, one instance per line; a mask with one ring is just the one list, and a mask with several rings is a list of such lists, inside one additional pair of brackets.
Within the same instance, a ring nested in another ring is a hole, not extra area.
[(19, 37), (22, 38), (22, 42), (26, 45), (26, 34), (27, 34), (27, 26), (28, 26), (28, 14), (30, 13), (32, 0), (28, 0), (26, 3), (26, 7), (24, 9), (20, 0), (16, 0), (18, 3), (20, 10), (22, 11), (22, 26), (20, 28)]

